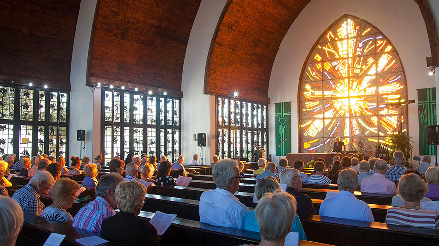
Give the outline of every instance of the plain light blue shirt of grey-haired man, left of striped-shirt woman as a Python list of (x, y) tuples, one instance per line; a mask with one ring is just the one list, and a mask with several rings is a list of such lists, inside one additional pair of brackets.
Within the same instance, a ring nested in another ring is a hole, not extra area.
[(374, 221), (372, 210), (367, 203), (357, 199), (349, 191), (340, 190), (337, 195), (321, 202), (320, 216), (349, 220)]

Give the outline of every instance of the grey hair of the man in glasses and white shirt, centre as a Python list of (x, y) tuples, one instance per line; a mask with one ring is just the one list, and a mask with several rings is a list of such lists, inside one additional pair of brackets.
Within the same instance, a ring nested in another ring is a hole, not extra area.
[(232, 159), (220, 160), (212, 170), (212, 178), (220, 189), (225, 189), (229, 185), (229, 180), (236, 177), (239, 173), (238, 163)]

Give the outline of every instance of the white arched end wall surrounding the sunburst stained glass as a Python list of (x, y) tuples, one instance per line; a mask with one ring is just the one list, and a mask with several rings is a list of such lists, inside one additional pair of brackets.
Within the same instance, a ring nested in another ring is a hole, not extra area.
[[(435, 87), (434, 76), (429, 76), (426, 57), (429, 57), (425, 23), (418, 5), (413, 0), (312, 0), (299, 14), (285, 35), (270, 77), (268, 97), (269, 114), (274, 119), (274, 104), (292, 101), (291, 108), (297, 109), (298, 83), (304, 61), (319, 36), (336, 19), (344, 14), (357, 16), (375, 25), (390, 39), (399, 53), (405, 69), (408, 99), (417, 100), (417, 88)], [(419, 155), (417, 104), (410, 104), (409, 134), (413, 137), (413, 154)], [(299, 151), (298, 117), (291, 117), (292, 152)], [(269, 131), (275, 132), (275, 122), (270, 121)], [(270, 151), (275, 156), (275, 138), (271, 134)], [(273, 158), (278, 160), (278, 158)]]

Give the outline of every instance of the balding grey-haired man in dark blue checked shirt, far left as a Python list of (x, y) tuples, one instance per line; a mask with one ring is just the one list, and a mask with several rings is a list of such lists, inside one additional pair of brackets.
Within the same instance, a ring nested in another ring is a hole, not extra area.
[(54, 183), (52, 174), (48, 171), (35, 173), (32, 181), (12, 195), (23, 211), (41, 216), (44, 204), (40, 201), (40, 195), (46, 195)]

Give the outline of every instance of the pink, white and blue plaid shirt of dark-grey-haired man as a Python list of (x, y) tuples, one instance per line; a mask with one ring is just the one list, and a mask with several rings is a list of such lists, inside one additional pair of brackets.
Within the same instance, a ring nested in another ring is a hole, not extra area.
[(87, 206), (82, 207), (73, 218), (73, 227), (81, 230), (100, 234), (102, 221), (106, 218), (114, 216), (116, 212), (110, 203), (101, 196), (97, 196)]

